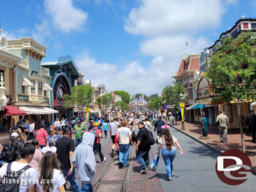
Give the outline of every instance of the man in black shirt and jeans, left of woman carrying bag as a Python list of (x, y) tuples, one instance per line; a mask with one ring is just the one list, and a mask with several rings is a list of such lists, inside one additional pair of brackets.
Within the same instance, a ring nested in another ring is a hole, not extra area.
[(142, 121), (138, 122), (138, 138), (136, 140), (136, 158), (138, 163), (141, 165), (140, 174), (144, 173), (149, 169), (149, 150), (150, 145), (148, 144), (149, 132), (144, 127)]

